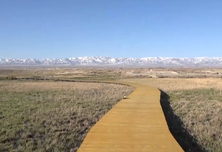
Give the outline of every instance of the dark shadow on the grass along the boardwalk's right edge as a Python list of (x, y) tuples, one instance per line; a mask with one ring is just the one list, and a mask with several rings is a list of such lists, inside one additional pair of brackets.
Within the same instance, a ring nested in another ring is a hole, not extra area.
[[(160, 89), (159, 89), (160, 90)], [(196, 139), (183, 127), (181, 119), (174, 114), (170, 106), (170, 96), (163, 90), (161, 92), (160, 103), (167, 121), (167, 125), (173, 137), (183, 148), (185, 152), (206, 152), (201, 145), (198, 145)]]

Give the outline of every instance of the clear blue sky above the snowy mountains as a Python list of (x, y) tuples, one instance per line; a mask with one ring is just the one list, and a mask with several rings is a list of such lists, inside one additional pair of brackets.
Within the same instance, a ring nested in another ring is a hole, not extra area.
[(221, 0), (1, 0), (0, 58), (221, 57)]

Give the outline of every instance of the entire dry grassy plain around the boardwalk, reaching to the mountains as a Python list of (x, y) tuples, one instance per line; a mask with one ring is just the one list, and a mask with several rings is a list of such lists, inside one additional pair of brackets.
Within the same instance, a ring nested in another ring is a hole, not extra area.
[[(90, 128), (133, 91), (128, 86), (90, 83), (112, 81), (159, 88), (165, 94), (160, 104), (168, 128), (183, 150), (221, 152), (221, 72), (210, 68), (2, 68), (1, 150), (76, 151)], [(59, 79), (88, 82), (55, 81)]]

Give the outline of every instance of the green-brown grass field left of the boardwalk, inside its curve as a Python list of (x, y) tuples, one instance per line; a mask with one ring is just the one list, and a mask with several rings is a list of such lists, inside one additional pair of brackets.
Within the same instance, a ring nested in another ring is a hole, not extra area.
[(0, 81), (0, 151), (76, 151), (132, 91), (102, 83)]

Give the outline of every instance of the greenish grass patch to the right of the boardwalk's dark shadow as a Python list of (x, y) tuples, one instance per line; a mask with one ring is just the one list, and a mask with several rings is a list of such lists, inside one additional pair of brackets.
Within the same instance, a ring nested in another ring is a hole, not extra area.
[(184, 128), (208, 152), (222, 151), (222, 92), (217, 89), (172, 91), (171, 106)]

